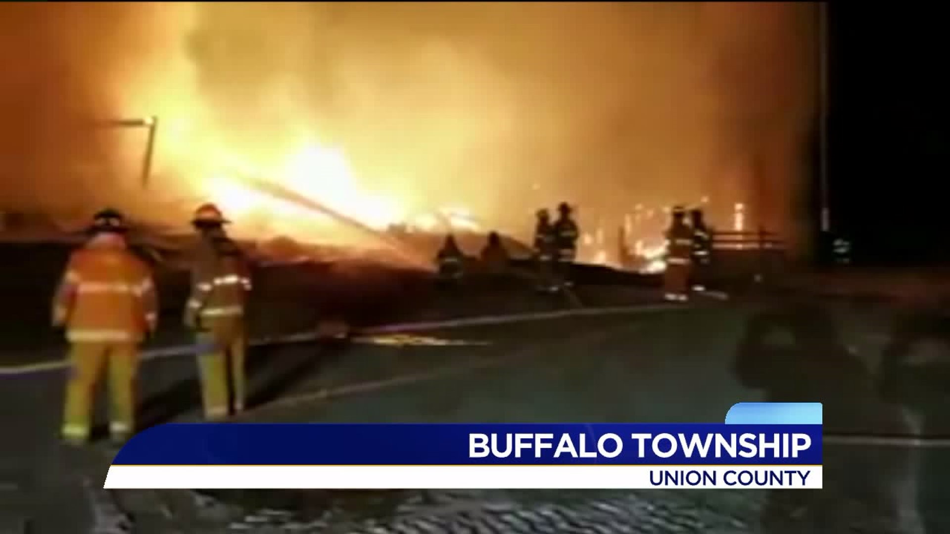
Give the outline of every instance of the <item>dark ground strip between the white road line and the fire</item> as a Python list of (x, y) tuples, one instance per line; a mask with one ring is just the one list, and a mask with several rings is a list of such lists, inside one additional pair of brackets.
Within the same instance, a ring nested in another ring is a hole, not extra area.
[[(65, 350), (60, 333), (49, 329), (52, 292), (66, 262), (62, 245), (0, 246), (0, 366), (28, 366), (59, 359)], [(188, 273), (174, 262), (156, 267), (161, 315), (160, 331), (146, 347), (185, 343), (181, 325), (188, 294)], [(656, 289), (628, 285), (622, 275), (586, 267), (594, 278), (614, 285), (591, 285), (578, 294), (587, 305), (645, 302)], [(613, 277), (611, 276), (613, 273)], [(529, 272), (499, 280), (476, 277), (458, 290), (440, 291), (431, 274), (360, 258), (314, 260), (306, 263), (258, 263), (251, 296), (250, 334), (271, 336), (313, 329), (319, 321), (343, 319), (354, 326), (444, 319), (453, 316), (541, 312), (571, 305), (563, 298), (539, 298)], [(628, 276), (629, 277), (629, 276)], [(612, 279), (617, 278), (617, 279)], [(656, 282), (656, 280), (653, 280)]]

